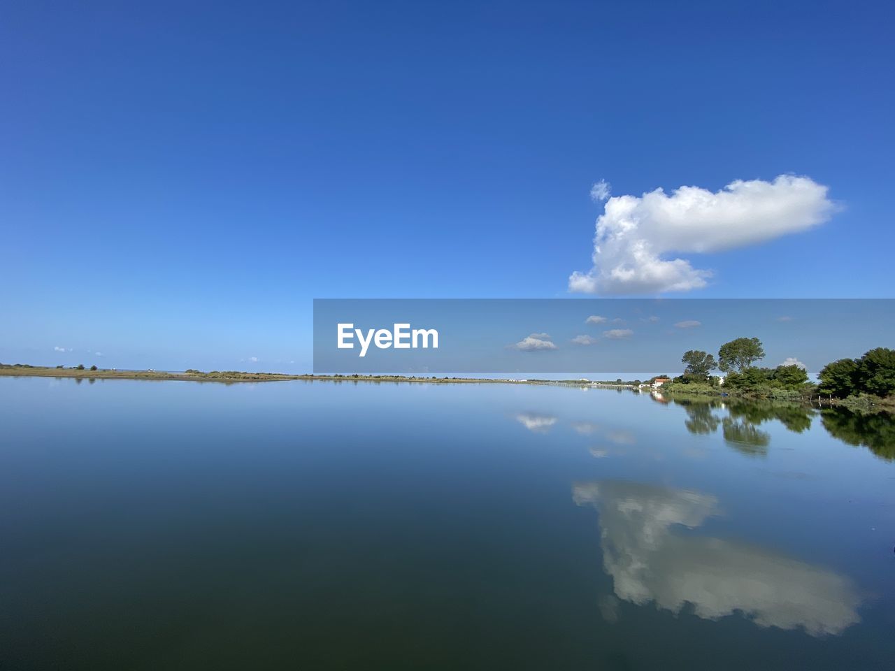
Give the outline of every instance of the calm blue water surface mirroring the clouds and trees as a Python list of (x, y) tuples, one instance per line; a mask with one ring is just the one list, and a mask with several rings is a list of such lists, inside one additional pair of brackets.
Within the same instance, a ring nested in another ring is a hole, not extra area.
[(0, 378), (0, 420), (3, 669), (895, 667), (886, 417)]

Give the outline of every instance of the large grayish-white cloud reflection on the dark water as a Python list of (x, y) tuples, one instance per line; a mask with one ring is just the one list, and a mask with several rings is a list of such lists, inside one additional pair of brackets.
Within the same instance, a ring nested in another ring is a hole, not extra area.
[(716, 620), (740, 613), (760, 627), (842, 633), (859, 621), (852, 582), (830, 570), (735, 540), (684, 534), (718, 513), (699, 492), (625, 481), (576, 484), (577, 505), (600, 514), (603, 567), (618, 599)]

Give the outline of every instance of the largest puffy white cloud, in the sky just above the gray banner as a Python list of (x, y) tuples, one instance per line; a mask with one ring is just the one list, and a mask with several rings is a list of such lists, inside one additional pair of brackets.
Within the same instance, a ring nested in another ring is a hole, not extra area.
[(568, 288), (583, 293), (656, 293), (700, 289), (712, 271), (669, 254), (703, 254), (767, 242), (827, 221), (827, 187), (781, 174), (773, 182), (737, 180), (720, 191), (682, 186), (615, 196), (597, 219), (593, 268)]

